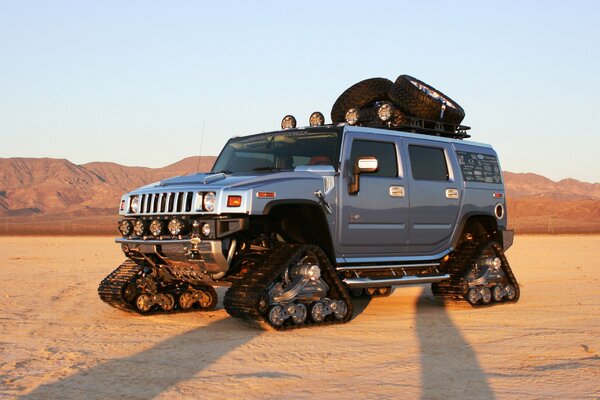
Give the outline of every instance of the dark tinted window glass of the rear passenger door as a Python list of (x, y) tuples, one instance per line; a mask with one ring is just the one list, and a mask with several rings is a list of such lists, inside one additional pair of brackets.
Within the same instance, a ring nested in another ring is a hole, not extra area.
[(410, 166), (414, 179), (447, 181), (448, 165), (444, 150), (426, 146), (408, 146)]

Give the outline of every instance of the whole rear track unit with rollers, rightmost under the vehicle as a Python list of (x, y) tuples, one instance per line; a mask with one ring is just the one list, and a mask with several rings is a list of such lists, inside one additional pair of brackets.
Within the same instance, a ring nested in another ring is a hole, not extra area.
[(502, 247), (494, 241), (477, 242), (471, 235), (445, 264), (450, 279), (431, 285), (444, 300), (466, 300), (472, 306), (519, 300), (519, 284)]

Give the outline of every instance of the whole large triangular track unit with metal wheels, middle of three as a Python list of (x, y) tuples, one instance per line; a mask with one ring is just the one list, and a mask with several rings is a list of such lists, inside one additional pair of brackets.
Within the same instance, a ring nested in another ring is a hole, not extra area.
[(225, 310), (275, 329), (345, 323), (352, 302), (325, 253), (312, 245), (274, 247), (225, 294)]

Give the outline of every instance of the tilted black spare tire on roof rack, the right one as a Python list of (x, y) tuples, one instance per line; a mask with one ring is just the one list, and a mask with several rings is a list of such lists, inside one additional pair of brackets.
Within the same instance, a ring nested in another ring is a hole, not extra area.
[[(390, 90), (390, 97), (396, 106), (412, 117), (455, 125), (465, 118), (465, 111), (457, 102), (410, 75), (400, 75), (396, 79)], [(442, 113), (443, 104), (446, 104), (446, 109)]]

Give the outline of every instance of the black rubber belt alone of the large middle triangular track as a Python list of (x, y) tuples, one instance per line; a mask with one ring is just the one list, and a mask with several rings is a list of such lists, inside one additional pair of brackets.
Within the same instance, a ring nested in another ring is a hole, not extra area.
[[(326, 320), (319, 324), (315, 324), (310, 321), (310, 318), (307, 318), (306, 322), (302, 325), (292, 324), (291, 318), (289, 318), (284, 325), (273, 327), (258, 312), (257, 305), (259, 298), (265, 293), (269, 285), (281, 276), (284, 268), (290, 265), (299, 251), (308, 250), (313, 251), (319, 258), (321, 277), (329, 285), (327, 297), (333, 300), (342, 299), (346, 302), (348, 306), (346, 317), (339, 321), (333, 315), (328, 315)], [(223, 305), (232, 317), (240, 318), (253, 326), (263, 329), (287, 330), (306, 326), (342, 324), (352, 319), (352, 301), (350, 300), (350, 296), (342, 286), (342, 282), (325, 253), (320, 248), (311, 245), (280, 245), (274, 248), (265, 258), (257, 262), (254, 268), (248, 271), (242, 279), (233, 283), (225, 294)]]

